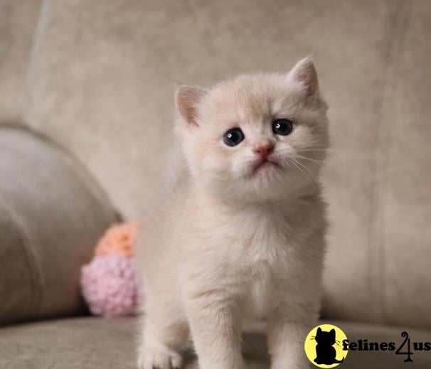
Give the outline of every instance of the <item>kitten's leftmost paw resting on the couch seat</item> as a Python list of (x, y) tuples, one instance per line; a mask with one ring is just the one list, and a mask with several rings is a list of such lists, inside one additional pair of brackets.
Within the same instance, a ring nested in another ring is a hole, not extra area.
[(145, 348), (138, 355), (138, 369), (180, 369), (183, 358), (169, 348)]

